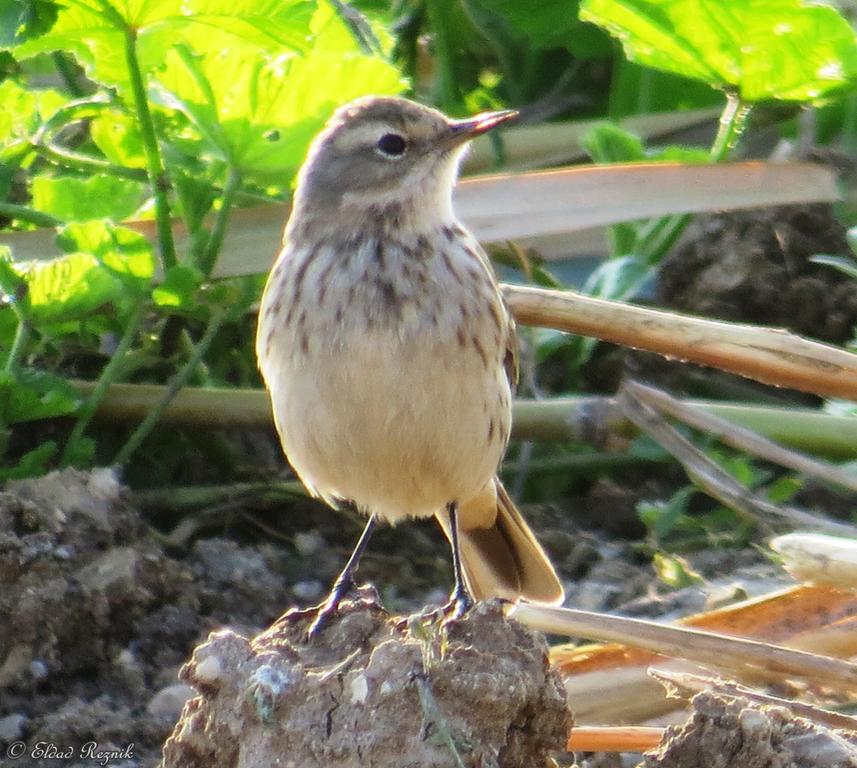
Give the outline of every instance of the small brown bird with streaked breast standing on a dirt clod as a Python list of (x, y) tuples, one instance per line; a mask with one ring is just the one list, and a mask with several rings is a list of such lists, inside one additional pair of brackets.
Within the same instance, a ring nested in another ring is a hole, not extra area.
[(358, 99), (301, 168), (256, 352), (304, 485), (369, 515), (316, 628), (352, 586), (376, 522), (408, 517), (435, 515), (449, 538), (456, 613), (471, 597), (563, 599), (496, 474), (515, 328), (488, 258), (452, 210), (468, 140), (515, 116), (452, 120), (405, 99)]

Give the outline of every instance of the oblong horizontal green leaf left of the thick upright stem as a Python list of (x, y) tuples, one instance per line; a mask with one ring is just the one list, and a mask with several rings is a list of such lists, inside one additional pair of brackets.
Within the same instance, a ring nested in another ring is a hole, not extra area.
[(100, 218), (122, 221), (137, 211), (145, 192), (138, 181), (107, 174), (86, 178), (36, 176), (32, 182), (33, 207), (67, 222)]

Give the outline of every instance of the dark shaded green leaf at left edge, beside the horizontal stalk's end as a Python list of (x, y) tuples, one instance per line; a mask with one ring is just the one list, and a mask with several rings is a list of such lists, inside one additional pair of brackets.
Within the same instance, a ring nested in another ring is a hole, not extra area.
[(0, 421), (17, 424), (74, 413), (79, 396), (59, 376), (24, 370), (17, 375), (0, 372)]

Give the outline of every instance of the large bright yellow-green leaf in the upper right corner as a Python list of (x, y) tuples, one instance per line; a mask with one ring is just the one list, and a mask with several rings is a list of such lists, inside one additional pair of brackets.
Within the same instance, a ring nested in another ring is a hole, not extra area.
[(857, 78), (857, 40), (833, 8), (801, 0), (582, 0), (581, 18), (638, 64), (735, 90), (814, 101)]

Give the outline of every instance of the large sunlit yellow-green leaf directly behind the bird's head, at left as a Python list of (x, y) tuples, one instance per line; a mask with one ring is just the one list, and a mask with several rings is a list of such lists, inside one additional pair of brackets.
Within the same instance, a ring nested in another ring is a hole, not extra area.
[(154, 98), (187, 115), (206, 150), (245, 178), (287, 181), (336, 106), (404, 85), (395, 67), (360, 51), (326, 3), (311, 31), (305, 52), (276, 58), (247, 44), (216, 53), (176, 46), (155, 75)]

